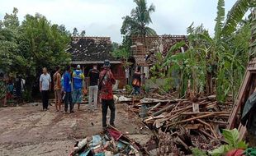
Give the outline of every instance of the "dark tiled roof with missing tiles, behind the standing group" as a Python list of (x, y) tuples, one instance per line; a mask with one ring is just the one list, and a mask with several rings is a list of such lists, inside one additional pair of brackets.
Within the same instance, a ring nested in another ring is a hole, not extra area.
[(73, 37), (70, 48), (72, 64), (103, 63), (108, 59), (111, 63), (121, 63), (111, 56), (110, 37)]

